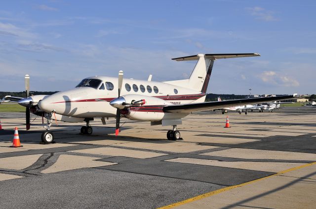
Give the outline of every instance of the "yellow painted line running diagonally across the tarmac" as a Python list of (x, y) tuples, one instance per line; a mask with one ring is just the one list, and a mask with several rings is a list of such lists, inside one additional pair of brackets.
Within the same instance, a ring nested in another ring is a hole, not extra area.
[(308, 163), (308, 164), (305, 164), (305, 165), (300, 165), (300, 166), (297, 166), (297, 167), (294, 167), (294, 168), (290, 168), (290, 169), (287, 169), (285, 171), (281, 171), (279, 173), (273, 174), (271, 176), (267, 176), (267, 177), (263, 177), (263, 178), (260, 178), (260, 179), (255, 179), (255, 180), (247, 181), (247, 182), (244, 182), (244, 183), (240, 183), (240, 184), (237, 184), (237, 185), (234, 185), (234, 186), (228, 186), (228, 187), (225, 187), (225, 188), (222, 188), (222, 189), (218, 189), (218, 190), (215, 190), (215, 191), (207, 192), (205, 194), (201, 194), (201, 195), (198, 195), (198, 196), (195, 196), (195, 197), (192, 197), (192, 198), (189, 198), (189, 199), (177, 202), (177, 203), (173, 203), (173, 204), (170, 204), (170, 205), (167, 205), (167, 206), (163, 206), (163, 207), (160, 207), (158, 209), (174, 208), (176, 206), (180, 206), (180, 205), (183, 205), (183, 204), (194, 202), (194, 201), (203, 199), (205, 197), (210, 197), (210, 196), (213, 196), (213, 195), (216, 195), (216, 194), (219, 194), (219, 193), (222, 193), (222, 192), (225, 192), (225, 191), (237, 188), (237, 187), (241, 187), (241, 186), (244, 186), (244, 185), (247, 185), (247, 184), (254, 183), (254, 182), (259, 181), (259, 180), (268, 179), (268, 178), (271, 178), (271, 177), (274, 177), (274, 176), (277, 176), (277, 175), (285, 174), (287, 172), (294, 171), (294, 170), (301, 169), (301, 168), (305, 168), (305, 167), (308, 167), (308, 166), (311, 166), (311, 165), (314, 165), (314, 164), (316, 164), (316, 162)]

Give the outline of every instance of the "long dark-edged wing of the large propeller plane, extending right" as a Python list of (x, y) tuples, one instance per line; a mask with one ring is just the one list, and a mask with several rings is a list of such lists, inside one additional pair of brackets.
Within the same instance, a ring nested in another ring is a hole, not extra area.
[(276, 101), (276, 100), (285, 100), (285, 99), (292, 99), (292, 98), (298, 98), (297, 94), (273, 96), (273, 97), (260, 97), (260, 98), (251, 98), (251, 99), (236, 99), (236, 100), (215, 101), (215, 102), (166, 105), (162, 108), (162, 111), (167, 112), (167, 113), (190, 113), (193, 111), (221, 109), (225, 107), (235, 107), (239, 105), (269, 102), (269, 101)]

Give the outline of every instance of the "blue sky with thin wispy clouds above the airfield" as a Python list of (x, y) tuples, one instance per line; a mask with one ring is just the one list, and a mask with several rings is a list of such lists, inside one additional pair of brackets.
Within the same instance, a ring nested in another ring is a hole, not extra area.
[(0, 91), (69, 90), (88, 76), (186, 79), (198, 53), (217, 60), (207, 92), (315, 92), (316, 1), (14, 0), (0, 7)]

